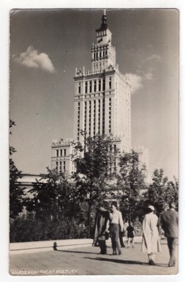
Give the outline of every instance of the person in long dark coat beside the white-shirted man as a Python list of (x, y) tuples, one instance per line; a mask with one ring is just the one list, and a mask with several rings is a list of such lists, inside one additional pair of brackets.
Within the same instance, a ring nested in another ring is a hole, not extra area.
[(106, 207), (106, 202), (99, 204), (95, 221), (95, 236), (94, 242), (97, 242), (100, 247), (100, 254), (107, 254), (106, 240), (108, 239), (109, 228), (109, 211)]

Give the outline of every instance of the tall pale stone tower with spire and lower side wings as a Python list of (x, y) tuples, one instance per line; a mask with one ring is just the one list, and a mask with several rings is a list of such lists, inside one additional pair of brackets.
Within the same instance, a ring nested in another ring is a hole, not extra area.
[[(76, 68), (73, 140), (83, 142), (80, 130), (88, 136), (112, 135), (114, 148), (130, 152), (131, 86), (129, 78), (119, 71), (116, 55), (104, 13), (102, 24), (96, 30), (96, 43), (91, 48), (91, 71)], [(52, 168), (71, 173), (74, 170), (72, 152), (72, 140), (53, 141)], [(148, 164), (148, 154), (144, 150), (139, 154), (141, 161)]]

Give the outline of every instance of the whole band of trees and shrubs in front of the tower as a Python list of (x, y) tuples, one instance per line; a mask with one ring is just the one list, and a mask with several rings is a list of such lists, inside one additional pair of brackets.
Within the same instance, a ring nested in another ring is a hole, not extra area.
[[(13, 125), (11, 121), (10, 128)], [(148, 204), (153, 204), (158, 214), (166, 202), (173, 201), (178, 207), (176, 178), (169, 181), (162, 168), (156, 169), (148, 186), (146, 167), (139, 163), (137, 152), (119, 152), (112, 136), (81, 134), (83, 144), (73, 142), (71, 158), (76, 171), (71, 178), (47, 168), (33, 183), (29, 197), (18, 186), (21, 171), (10, 158), (11, 242), (93, 238), (96, 207), (105, 200), (117, 200), (124, 220), (133, 222), (142, 221)], [(14, 152), (10, 147), (10, 157)]]

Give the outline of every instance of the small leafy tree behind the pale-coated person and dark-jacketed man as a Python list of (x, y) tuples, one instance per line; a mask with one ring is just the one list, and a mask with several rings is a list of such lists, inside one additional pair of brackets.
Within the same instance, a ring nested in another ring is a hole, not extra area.
[(156, 169), (153, 173), (153, 183), (150, 184), (148, 191), (145, 192), (145, 205), (153, 204), (158, 213), (165, 209), (165, 203), (175, 202), (178, 204), (179, 183), (176, 178), (168, 181), (164, 176), (164, 171)]

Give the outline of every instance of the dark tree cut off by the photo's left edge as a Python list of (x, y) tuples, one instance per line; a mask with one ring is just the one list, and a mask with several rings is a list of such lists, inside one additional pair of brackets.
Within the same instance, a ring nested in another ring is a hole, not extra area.
[[(16, 125), (16, 123), (10, 120), (9, 128), (11, 128), (13, 125)], [(21, 171), (18, 170), (16, 164), (11, 158), (14, 152), (16, 152), (16, 149), (10, 146), (9, 147), (9, 154), (10, 154), (9, 205), (10, 205), (10, 217), (12, 219), (15, 219), (16, 216), (18, 216), (18, 214), (23, 211), (23, 196), (25, 195), (23, 188), (20, 188), (20, 186), (18, 186), (17, 183), (18, 178), (21, 178)]]

